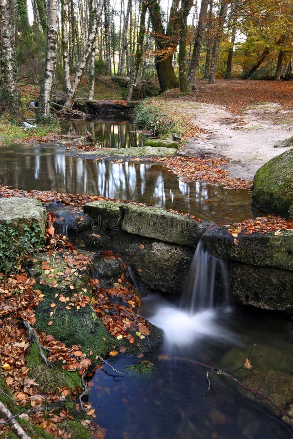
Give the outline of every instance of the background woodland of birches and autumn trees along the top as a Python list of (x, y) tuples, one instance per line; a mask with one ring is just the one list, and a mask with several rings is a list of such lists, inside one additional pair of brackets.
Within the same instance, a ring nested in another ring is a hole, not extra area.
[(38, 119), (53, 88), (71, 109), (82, 77), (88, 100), (101, 76), (138, 78), (162, 92), (198, 78), (292, 79), (292, 1), (0, 1), (0, 104), (19, 114), (21, 87), (37, 86)]

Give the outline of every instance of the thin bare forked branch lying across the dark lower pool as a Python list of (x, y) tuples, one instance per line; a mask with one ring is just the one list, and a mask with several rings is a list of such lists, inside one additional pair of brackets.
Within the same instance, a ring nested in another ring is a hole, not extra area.
[(274, 408), (276, 408), (277, 410), (279, 410), (279, 412), (281, 412), (284, 416), (286, 416), (289, 419), (293, 419), (293, 416), (290, 415), (288, 412), (286, 412), (285, 410), (283, 410), (279, 405), (277, 405), (274, 400), (270, 397), (268, 397), (267, 395), (258, 392), (257, 390), (253, 390), (251, 389), (251, 387), (247, 386), (246, 384), (244, 384), (243, 382), (239, 381), (239, 379), (235, 378), (233, 375), (229, 374), (228, 372), (225, 372), (222, 369), (218, 369), (217, 367), (212, 367), (209, 364), (205, 364), (205, 363), (201, 363), (200, 361), (195, 361), (192, 359), (187, 359), (187, 358), (179, 358), (179, 357), (173, 357), (173, 358), (167, 358), (169, 360), (180, 360), (180, 361), (185, 361), (197, 366), (202, 366), (205, 367), (206, 369), (208, 369), (207, 373), (206, 373), (206, 377), (208, 380), (208, 388), (205, 392), (206, 396), (209, 393), (210, 390), (210, 379), (209, 379), (209, 373), (210, 372), (217, 372), (218, 375), (222, 375), (224, 377), (227, 377), (229, 379), (231, 379), (232, 381), (236, 382), (240, 387), (242, 387), (243, 389), (247, 390), (248, 392), (252, 393), (252, 395), (254, 396), (258, 396), (262, 399), (265, 399), (267, 402), (269, 402)]

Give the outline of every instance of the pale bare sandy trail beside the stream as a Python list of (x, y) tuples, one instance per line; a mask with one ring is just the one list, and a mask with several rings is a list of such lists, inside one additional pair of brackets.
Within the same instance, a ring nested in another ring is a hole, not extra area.
[(231, 161), (225, 169), (233, 178), (253, 180), (260, 166), (290, 149), (274, 145), (293, 136), (293, 111), (275, 103), (255, 105), (241, 116), (223, 106), (202, 103), (193, 122), (207, 133), (189, 139), (180, 153), (226, 157)]

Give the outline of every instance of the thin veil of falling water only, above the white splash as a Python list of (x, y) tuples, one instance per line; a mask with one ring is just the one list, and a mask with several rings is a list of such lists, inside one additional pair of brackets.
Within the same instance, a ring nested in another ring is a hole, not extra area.
[(200, 240), (188, 271), (180, 307), (193, 314), (216, 306), (230, 307), (227, 264), (212, 256)]

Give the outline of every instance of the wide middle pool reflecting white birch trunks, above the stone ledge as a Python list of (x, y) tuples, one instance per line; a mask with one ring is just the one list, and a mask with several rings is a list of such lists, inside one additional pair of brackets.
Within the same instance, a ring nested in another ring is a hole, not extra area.
[(51, 190), (145, 202), (227, 222), (251, 218), (251, 195), (203, 182), (184, 183), (155, 163), (71, 157), (56, 144), (0, 148), (0, 180), (16, 189)]

